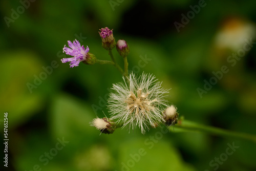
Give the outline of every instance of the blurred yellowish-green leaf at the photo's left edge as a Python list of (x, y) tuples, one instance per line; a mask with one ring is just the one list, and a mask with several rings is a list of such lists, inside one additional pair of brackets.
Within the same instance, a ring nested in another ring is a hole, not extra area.
[[(9, 126), (24, 123), (42, 108), (44, 96), (29, 92), (27, 83), (40, 71), (38, 57), (26, 51), (4, 53), (0, 63), (0, 109), (8, 112)], [(33, 89), (35, 90), (35, 89)]]

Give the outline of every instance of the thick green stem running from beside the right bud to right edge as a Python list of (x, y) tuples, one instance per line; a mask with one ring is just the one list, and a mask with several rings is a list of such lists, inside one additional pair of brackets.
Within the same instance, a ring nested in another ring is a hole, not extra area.
[[(206, 126), (206, 125), (202, 125), (202, 124), (198, 124), (198, 123), (195, 123), (195, 122), (182, 120), (182, 119), (178, 121), (178, 123), (175, 125), (175, 127), (178, 127), (178, 128), (180, 128), (182, 130), (185, 130), (185, 131), (203, 132), (203, 133), (206, 133), (206, 134), (218, 135), (218, 136), (222, 136), (222, 137), (242, 138), (242, 139), (251, 140), (254, 143), (256, 143), (256, 136), (255, 135), (228, 131), (228, 130), (224, 130), (224, 129), (219, 129), (217, 127)], [(172, 131), (170, 126), (169, 126), (169, 130)]]

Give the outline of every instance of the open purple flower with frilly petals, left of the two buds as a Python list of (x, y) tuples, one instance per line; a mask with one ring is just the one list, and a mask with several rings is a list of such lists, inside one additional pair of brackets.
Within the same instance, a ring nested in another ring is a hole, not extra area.
[(63, 58), (61, 59), (62, 63), (70, 62), (70, 68), (77, 67), (80, 61), (87, 59), (87, 53), (89, 52), (89, 48), (87, 46), (84, 49), (83, 46), (80, 45), (79, 41), (74, 40), (73, 44), (70, 40), (68, 40), (68, 45), (71, 48), (67, 48), (66, 45), (63, 48), (63, 53), (65, 52), (67, 55), (71, 55), (74, 57), (71, 58)]

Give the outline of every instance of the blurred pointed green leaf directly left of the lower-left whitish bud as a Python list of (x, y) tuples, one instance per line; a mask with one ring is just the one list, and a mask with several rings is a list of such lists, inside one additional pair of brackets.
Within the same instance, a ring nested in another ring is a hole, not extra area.
[(53, 137), (72, 140), (73, 147), (90, 144), (100, 134), (89, 124), (95, 117), (87, 103), (70, 95), (57, 95), (54, 97), (50, 112)]

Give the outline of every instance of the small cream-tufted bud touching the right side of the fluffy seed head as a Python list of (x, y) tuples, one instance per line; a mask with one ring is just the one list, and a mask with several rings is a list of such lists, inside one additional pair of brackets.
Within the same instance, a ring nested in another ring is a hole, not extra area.
[(178, 121), (179, 114), (177, 113), (177, 108), (174, 105), (169, 106), (163, 112), (163, 117), (166, 125), (174, 125)]

